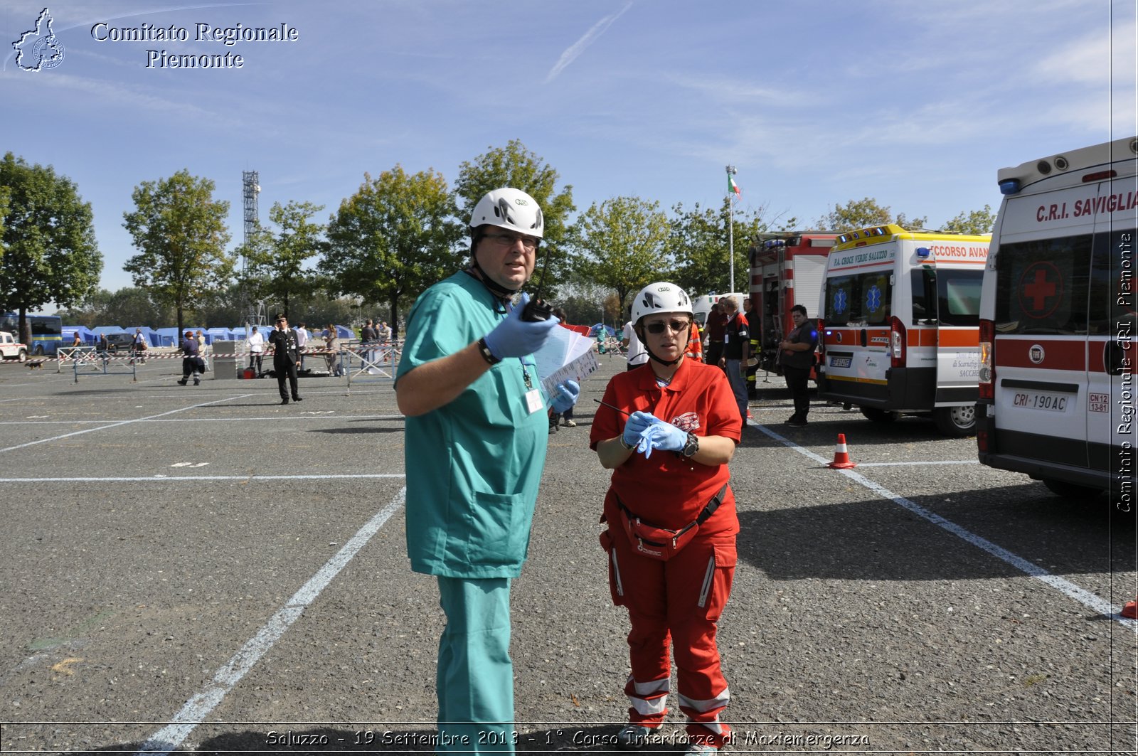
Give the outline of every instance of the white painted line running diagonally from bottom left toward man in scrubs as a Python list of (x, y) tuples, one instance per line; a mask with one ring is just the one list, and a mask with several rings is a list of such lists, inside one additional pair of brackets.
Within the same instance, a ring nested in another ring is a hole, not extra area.
[(249, 669), (273, 647), (284, 631), (297, 621), (305, 607), (312, 603), (332, 578), (368, 544), (379, 528), (403, 506), (407, 490), (403, 487), (395, 499), (360, 528), (352, 540), (335, 557), (289, 599), (269, 622), (233, 655), (223, 667), (214, 673), (213, 680), (190, 697), (170, 724), (150, 736), (138, 754), (165, 756), (178, 748), (183, 740), (205, 721), (229, 691), (241, 681)]

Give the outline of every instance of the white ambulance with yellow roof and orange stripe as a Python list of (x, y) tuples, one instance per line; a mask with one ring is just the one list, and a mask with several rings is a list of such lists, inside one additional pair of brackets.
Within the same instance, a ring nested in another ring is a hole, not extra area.
[(838, 237), (818, 315), (818, 396), (871, 420), (975, 429), (980, 287), (990, 237), (879, 225)]

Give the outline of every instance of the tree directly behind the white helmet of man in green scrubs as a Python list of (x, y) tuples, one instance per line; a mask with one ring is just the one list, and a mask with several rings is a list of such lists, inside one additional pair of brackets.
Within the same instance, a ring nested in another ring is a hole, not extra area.
[[(572, 203), (572, 187), (566, 186), (555, 192), (560, 175), (543, 158), (526, 149), (521, 141), (513, 139), (505, 147), (490, 147), (485, 155), (459, 166), (459, 178), (454, 191), (460, 199), (460, 217), (468, 223), (475, 205), (490, 189), (513, 187), (521, 189), (537, 200), (542, 207), (545, 233), (542, 238), (541, 255), (534, 286), (541, 285), (544, 274), (545, 289), (542, 297), (555, 299), (558, 287), (570, 278), (570, 260), (566, 250), (569, 214), (577, 209)], [(549, 261), (547, 263), (545, 261)], [(549, 268), (546, 269), (546, 264)], [(543, 272), (544, 271), (544, 272)]]

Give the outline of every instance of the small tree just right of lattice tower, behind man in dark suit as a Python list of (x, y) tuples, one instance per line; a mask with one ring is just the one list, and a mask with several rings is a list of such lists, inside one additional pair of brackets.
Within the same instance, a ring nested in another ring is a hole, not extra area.
[(280, 302), (281, 311), (291, 315), (292, 297), (310, 297), (319, 288), (320, 277), (313, 270), (305, 270), (304, 263), (328, 248), (325, 227), (311, 220), (322, 209), (323, 205), (296, 200), (286, 206), (273, 203), (269, 220), (280, 230), (274, 235), (262, 229), (245, 249), (250, 297)]

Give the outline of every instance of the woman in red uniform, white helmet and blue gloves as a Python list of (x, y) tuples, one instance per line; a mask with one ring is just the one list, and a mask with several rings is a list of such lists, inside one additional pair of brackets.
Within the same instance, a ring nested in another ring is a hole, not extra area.
[(687, 753), (715, 754), (731, 732), (719, 721), (731, 696), (715, 635), (735, 572), (739, 518), (727, 462), (742, 421), (723, 370), (684, 359), (692, 318), (677, 286), (652, 284), (636, 295), (632, 320), (650, 359), (609, 381), (589, 443), (612, 470), (601, 543), (612, 600), (632, 621), (632, 706), (618, 742), (659, 741), (670, 644)]

